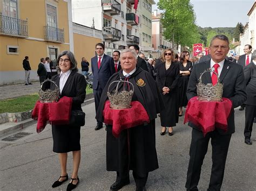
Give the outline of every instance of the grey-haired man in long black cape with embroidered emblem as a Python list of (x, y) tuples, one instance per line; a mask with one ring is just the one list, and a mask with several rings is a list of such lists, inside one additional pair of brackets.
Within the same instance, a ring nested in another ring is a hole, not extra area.
[[(136, 67), (137, 55), (134, 50), (124, 49), (120, 55), (120, 62), (122, 69), (110, 77), (103, 90), (96, 119), (104, 121), (104, 103), (107, 100), (110, 83), (120, 78), (131, 82), (134, 86), (132, 101), (138, 101), (143, 105), (150, 123), (125, 129), (120, 132), (118, 138), (112, 135), (112, 125), (107, 125), (106, 168), (107, 171), (117, 172), (117, 179), (111, 185), (111, 190), (119, 190), (130, 183), (130, 170), (133, 171), (136, 190), (145, 190), (149, 172), (158, 168), (155, 118), (164, 105), (154, 79), (148, 72)], [(115, 88), (112, 87), (110, 92)], [(123, 86), (119, 87), (122, 88)]]

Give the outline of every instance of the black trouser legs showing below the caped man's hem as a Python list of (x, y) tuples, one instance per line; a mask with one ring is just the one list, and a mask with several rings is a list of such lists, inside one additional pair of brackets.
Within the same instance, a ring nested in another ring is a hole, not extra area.
[[(144, 187), (147, 183), (147, 176), (149, 175), (149, 173), (146, 174), (146, 176), (144, 177), (140, 177), (135, 171), (132, 171), (132, 175), (134, 178), (134, 181), (136, 183), (136, 187)], [(127, 172), (127, 174), (120, 174), (119, 172), (117, 172), (117, 179), (116, 182), (120, 182), (123, 180), (129, 180), (129, 172)]]

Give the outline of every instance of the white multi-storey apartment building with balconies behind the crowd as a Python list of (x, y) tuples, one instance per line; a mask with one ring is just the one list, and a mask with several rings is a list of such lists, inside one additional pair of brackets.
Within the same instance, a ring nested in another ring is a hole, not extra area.
[[(105, 53), (140, 45), (138, 9), (134, 0), (72, 0), (73, 22), (101, 30)], [(92, 6), (93, 5), (93, 6)], [(95, 49), (95, 45), (91, 45)]]

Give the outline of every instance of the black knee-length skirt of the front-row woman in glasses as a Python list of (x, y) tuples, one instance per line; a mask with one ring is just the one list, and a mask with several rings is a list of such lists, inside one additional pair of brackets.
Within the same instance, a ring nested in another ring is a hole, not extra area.
[(80, 126), (52, 125), (53, 152), (79, 151)]

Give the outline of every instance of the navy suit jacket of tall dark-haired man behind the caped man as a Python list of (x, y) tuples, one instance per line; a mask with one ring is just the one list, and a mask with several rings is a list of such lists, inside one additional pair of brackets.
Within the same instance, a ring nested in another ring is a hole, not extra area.
[(104, 54), (100, 67), (98, 69), (98, 56), (91, 59), (91, 67), (93, 74), (92, 88), (96, 90), (98, 86), (104, 89), (110, 76), (116, 72), (114, 69), (114, 60), (111, 56)]

